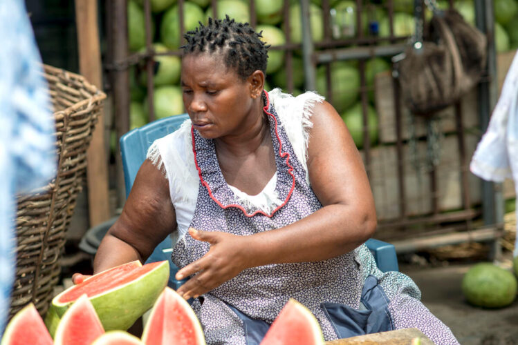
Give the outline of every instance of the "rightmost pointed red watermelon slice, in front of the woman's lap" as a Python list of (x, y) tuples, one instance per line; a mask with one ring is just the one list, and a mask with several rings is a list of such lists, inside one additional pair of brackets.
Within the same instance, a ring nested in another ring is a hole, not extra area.
[(290, 299), (259, 345), (324, 344), (317, 318), (308, 308)]

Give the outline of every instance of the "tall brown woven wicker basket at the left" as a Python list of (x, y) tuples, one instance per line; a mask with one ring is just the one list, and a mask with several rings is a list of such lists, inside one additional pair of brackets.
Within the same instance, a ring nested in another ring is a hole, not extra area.
[(59, 258), (86, 171), (86, 150), (106, 95), (84, 77), (44, 67), (55, 119), (57, 177), (17, 199), (17, 266), (9, 319), (33, 302), (41, 315), (59, 281)]

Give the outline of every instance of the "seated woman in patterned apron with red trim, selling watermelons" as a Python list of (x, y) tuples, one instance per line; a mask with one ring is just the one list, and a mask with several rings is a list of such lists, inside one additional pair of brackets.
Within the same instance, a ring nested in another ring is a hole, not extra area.
[(176, 278), (191, 277), (178, 293), (208, 344), (258, 344), (290, 297), (326, 340), (418, 327), (456, 344), (411, 279), (381, 273), (364, 246), (373, 197), (333, 107), (264, 91), (268, 47), (248, 24), (210, 20), (185, 37), (190, 121), (149, 149), (95, 272), (144, 262), (176, 230)]

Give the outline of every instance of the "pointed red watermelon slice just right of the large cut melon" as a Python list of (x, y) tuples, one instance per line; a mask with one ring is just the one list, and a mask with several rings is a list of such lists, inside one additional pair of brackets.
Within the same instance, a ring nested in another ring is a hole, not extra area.
[(202, 345), (205, 337), (189, 303), (175, 290), (166, 287), (147, 319), (142, 342), (146, 345)]

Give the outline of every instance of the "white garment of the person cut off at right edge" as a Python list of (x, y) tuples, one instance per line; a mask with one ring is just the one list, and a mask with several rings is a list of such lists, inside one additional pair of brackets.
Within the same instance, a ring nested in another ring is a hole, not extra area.
[[(488, 129), (472, 157), (470, 170), (487, 181), (514, 179), (518, 195), (518, 54), (507, 72)], [(518, 256), (518, 237), (513, 254)]]

